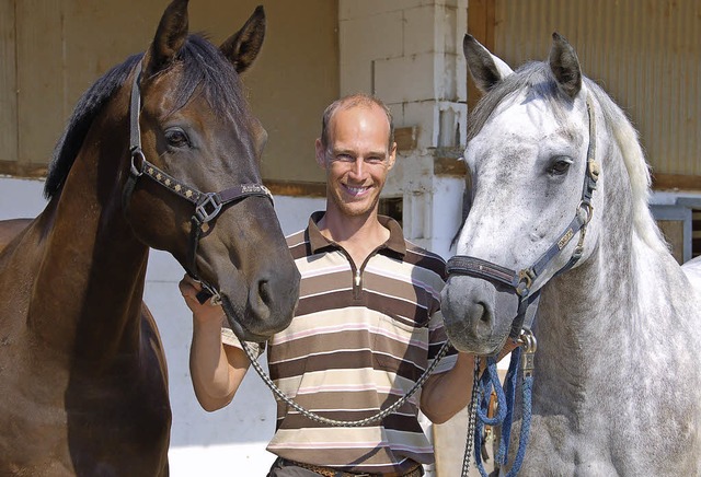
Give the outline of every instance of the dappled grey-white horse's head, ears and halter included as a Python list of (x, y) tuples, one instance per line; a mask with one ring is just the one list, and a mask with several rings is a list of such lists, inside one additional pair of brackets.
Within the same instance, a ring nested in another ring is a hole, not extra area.
[(517, 317), (532, 317), (524, 315), (548, 280), (596, 246), (597, 110), (559, 34), (548, 61), (516, 71), (470, 35), (463, 48), (485, 95), (471, 114), (472, 202), (448, 264), (443, 313), (456, 347), (493, 354), (518, 334)]

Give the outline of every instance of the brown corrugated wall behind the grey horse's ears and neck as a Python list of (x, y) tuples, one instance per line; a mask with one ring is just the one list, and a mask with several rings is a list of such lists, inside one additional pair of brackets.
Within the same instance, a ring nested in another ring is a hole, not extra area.
[(656, 174), (701, 175), (701, 2), (496, 0), (494, 51), (544, 59), (551, 34), (628, 112)]

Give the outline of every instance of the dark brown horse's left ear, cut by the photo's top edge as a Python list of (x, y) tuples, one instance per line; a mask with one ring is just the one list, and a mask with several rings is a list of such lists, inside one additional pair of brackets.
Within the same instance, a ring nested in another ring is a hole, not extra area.
[(170, 65), (187, 38), (187, 0), (173, 0), (161, 16), (143, 71), (152, 77)]

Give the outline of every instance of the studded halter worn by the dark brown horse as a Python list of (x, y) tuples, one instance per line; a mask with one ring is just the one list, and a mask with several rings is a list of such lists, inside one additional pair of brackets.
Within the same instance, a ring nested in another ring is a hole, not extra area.
[(216, 219), (223, 210), (223, 207), (228, 203), (235, 202), (250, 196), (266, 197), (271, 202), (273, 202), (273, 195), (267, 187), (257, 183), (235, 185), (219, 193), (202, 193), (196, 188), (180, 182), (163, 170), (147, 161), (141, 149), (141, 128), (139, 126), (139, 115), (141, 113), (141, 94), (139, 90), (140, 78), (141, 61), (139, 61), (136, 67), (134, 82), (131, 84), (131, 101), (129, 104), (129, 152), (131, 154), (131, 166), (129, 167), (129, 177), (124, 186), (122, 196), (123, 209), (126, 213), (136, 183), (142, 175), (151, 178), (156, 184), (165, 187), (168, 190), (176, 194), (188, 202), (192, 202), (195, 206), (195, 211), (189, 221), (189, 247), (187, 248), (186, 271), (191, 277), (199, 280), (203, 288), (208, 292), (205, 294), (199, 293), (197, 295), (200, 302), (206, 301), (209, 298), (208, 295), (214, 295), (214, 301), (217, 301), (219, 300), (219, 293), (214, 289), (214, 287), (202, 281), (196, 271), (197, 246), (199, 245), (203, 226)]

